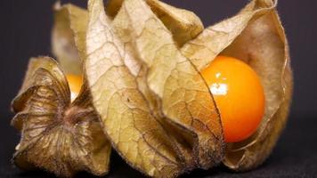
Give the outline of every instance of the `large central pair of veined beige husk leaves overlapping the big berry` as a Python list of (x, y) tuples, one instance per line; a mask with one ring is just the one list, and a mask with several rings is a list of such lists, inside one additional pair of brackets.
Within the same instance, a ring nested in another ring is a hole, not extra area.
[(224, 141), (212, 95), (150, 7), (127, 0), (111, 23), (102, 0), (88, 6), (86, 76), (118, 153), (156, 177), (219, 163)]

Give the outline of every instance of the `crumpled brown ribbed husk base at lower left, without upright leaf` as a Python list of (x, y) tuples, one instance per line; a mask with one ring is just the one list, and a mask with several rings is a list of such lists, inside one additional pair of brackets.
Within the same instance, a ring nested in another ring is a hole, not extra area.
[(20, 168), (42, 168), (63, 177), (80, 171), (108, 172), (110, 144), (89, 91), (84, 85), (77, 100), (70, 103), (68, 82), (53, 59), (29, 61), (12, 109), (17, 113), (12, 125), (21, 132), (13, 162)]

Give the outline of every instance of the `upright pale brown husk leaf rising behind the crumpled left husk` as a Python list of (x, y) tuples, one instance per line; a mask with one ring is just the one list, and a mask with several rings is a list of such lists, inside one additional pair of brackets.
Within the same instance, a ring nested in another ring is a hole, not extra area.
[(85, 59), (85, 31), (88, 12), (73, 4), (54, 6), (54, 27), (52, 34), (53, 54), (66, 73), (81, 74)]

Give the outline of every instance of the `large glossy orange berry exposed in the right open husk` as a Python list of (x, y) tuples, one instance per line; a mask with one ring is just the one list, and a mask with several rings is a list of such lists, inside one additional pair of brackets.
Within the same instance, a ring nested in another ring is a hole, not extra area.
[(225, 142), (240, 142), (256, 132), (264, 117), (264, 89), (256, 71), (238, 59), (217, 56), (202, 77), (213, 93)]

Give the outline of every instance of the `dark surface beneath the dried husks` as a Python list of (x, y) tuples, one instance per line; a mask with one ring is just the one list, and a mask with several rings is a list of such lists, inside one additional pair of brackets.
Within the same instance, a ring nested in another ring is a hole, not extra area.
[[(314, 117), (290, 117), (289, 125), (280, 137), (272, 156), (264, 165), (247, 173), (232, 173), (224, 167), (216, 167), (212, 170), (197, 170), (191, 174), (183, 175), (190, 177), (316, 177), (317, 174), (317, 132), (313, 127), (316, 124)], [(2, 126), (3, 127), (3, 126)], [(7, 129), (6, 142), (0, 147), (0, 177), (53, 177), (45, 172), (23, 173), (10, 164), (14, 141), (10, 140), (14, 132)], [(10, 135), (10, 136), (9, 136)], [(10, 145), (10, 147), (8, 146)], [(118, 157), (112, 154), (110, 174), (108, 177), (131, 177), (142, 176)], [(93, 177), (88, 174), (79, 174), (78, 177)]]

